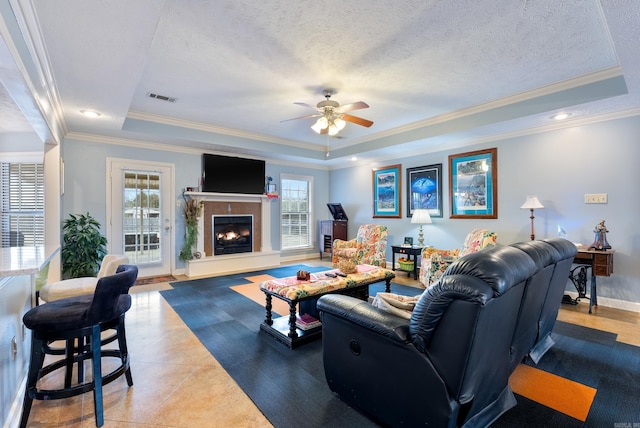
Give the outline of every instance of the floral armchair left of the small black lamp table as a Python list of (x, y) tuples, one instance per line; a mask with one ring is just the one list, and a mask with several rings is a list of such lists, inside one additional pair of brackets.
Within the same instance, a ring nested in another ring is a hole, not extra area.
[(387, 267), (387, 234), (386, 226), (363, 224), (355, 239), (334, 240), (333, 266), (337, 267), (342, 260), (351, 260), (357, 265)]

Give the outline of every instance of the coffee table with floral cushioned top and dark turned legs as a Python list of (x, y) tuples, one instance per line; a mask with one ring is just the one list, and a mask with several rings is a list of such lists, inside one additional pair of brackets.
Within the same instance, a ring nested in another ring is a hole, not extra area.
[[(301, 281), (295, 276), (272, 279), (260, 283), (260, 290), (266, 296), (265, 309), (267, 316), (260, 331), (284, 343), (289, 348), (295, 348), (303, 343), (317, 339), (322, 335), (322, 326), (302, 330), (296, 327), (296, 313), (298, 303), (318, 299), (330, 293), (346, 294), (362, 300), (369, 298), (369, 285), (385, 281), (385, 291), (391, 289), (391, 280), (395, 277), (392, 270), (371, 265), (358, 265), (358, 271), (346, 277), (332, 278), (327, 273), (339, 272), (331, 269), (324, 272), (312, 273), (309, 281)], [(276, 297), (289, 304), (289, 315), (273, 318), (271, 300)]]

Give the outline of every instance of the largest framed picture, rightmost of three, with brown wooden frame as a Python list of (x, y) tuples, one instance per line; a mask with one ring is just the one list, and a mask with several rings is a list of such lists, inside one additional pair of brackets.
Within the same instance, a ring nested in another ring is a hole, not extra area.
[(449, 156), (450, 218), (498, 218), (498, 149)]

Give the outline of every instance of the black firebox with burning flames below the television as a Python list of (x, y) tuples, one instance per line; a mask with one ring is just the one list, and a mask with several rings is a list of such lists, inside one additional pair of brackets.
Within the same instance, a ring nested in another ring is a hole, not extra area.
[(211, 220), (214, 255), (253, 251), (252, 215), (213, 215)]

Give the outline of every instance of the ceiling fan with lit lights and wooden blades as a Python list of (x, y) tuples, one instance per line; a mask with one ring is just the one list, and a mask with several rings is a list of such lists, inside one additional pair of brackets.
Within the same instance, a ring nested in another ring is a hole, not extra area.
[(324, 94), (325, 100), (320, 101), (318, 104), (316, 104), (315, 107), (307, 103), (294, 103), (299, 106), (316, 110), (317, 113), (283, 120), (282, 122), (307, 119), (310, 117), (318, 117), (319, 119), (311, 126), (311, 129), (313, 129), (318, 134), (329, 134), (331, 136), (336, 135), (338, 132), (340, 132), (345, 127), (346, 122), (355, 123), (356, 125), (360, 126), (366, 126), (367, 128), (373, 125), (373, 122), (370, 120), (347, 114), (347, 112), (353, 110), (369, 108), (369, 105), (367, 103), (358, 101), (341, 106), (340, 104), (338, 104), (338, 102), (330, 99), (331, 95), (334, 95), (336, 93), (333, 89), (325, 89), (322, 93)]

